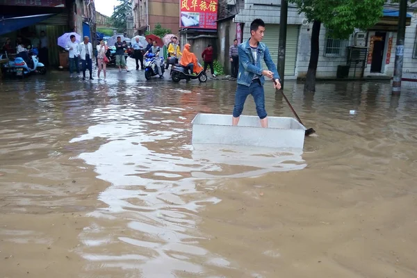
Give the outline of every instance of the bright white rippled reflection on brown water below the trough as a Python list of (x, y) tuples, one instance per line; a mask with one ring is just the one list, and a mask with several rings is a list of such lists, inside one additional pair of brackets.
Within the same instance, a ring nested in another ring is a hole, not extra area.
[[(162, 116), (161, 112), (172, 115)], [(306, 166), (301, 151), (189, 145), (190, 137), (184, 133), (190, 129), (173, 120), (182, 112), (168, 107), (96, 110), (90, 117), (97, 124), (70, 141), (106, 138), (95, 152), (79, 156), (95, 165), (99, 179), (111, 183), (99, 195), (107, 206), (90, 213), (100, 223), (100, 232), (85, 230), (80, 235), (84, 244), (79, 252), (85, 259), (107, 267), (140, 269), (144, 277), (176, 277), (174, 273), (183, 270), (197, 274), (207, 272), (209, 265), (235, 268), (226, 258), (198, 246), (199, 240), (210, 237), (199, 234), (197, 213), (221, 200), (199, 191), (197, 183), (210, 179), (211, 183), (204, 184), (212, 189), (216, 179)], [(145, 113), (152, 120), (144, 120)], [(128, 118), (128, 122), (117, 121)], [(109, 225), (115, 231), (110, 239)], [(117, 243), (122, 246), (119, 252), (102, 255)], [(164, 267), (158, 268), (158, 264)]]

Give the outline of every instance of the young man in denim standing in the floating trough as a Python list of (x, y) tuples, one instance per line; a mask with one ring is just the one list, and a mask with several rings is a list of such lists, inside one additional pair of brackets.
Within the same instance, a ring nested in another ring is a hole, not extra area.
[[(265, 23), (263, 20), (254, 19), (252, 24), (250, 24), (250, 39), (238, 47), (239, 73), (232, 120), (234, 126), (238, 125), (247, 96), (252, 95), (256, 104), (256, 113), (259, 119), (261, 119), (261, 126), (268, 127), (267, 113), (265, 111), (265, 93), (263, 91), (264, 76), (269, 79), (275, 79), (276, 85), (274, 87), (278, 90), (281, 89), (277, 67), (272, 61), (268, 47), (261, 42), (264, 32)], [(265, 61), (268, 70), (262, 69), (262, 59)]]

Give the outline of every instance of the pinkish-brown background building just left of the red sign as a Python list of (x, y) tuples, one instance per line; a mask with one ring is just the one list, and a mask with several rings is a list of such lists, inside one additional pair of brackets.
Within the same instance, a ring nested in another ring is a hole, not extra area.
[(133, 0), (132, 5), (135, 35), (152, 31), (156, 24), (161, 24), (162, 28), (171, 29), (174, 34), (178, 33), (178, 0)]

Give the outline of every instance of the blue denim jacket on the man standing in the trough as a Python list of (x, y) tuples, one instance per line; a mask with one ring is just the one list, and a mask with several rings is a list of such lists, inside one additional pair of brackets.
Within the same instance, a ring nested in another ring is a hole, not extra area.
[(263, 42), (258, 44), (258, 57), (256, 65), (254, 65), (254, 58), (252, 57), (252, 50), (250, 49), (249, 40), (239, 44), (239, 74), (238, 84), (245, 85), (247, 87), (252, 83), (254, 74), (260, 75), (259, 80), (263, 85), (265, 83), (265, 77), (262, 75), (263, 69), (261, 68), (261, 60), (265, 61), (268, 70), (273, 72), (274, 79), (279, 79), (277, 67), (272, 61), (268, 47)]

